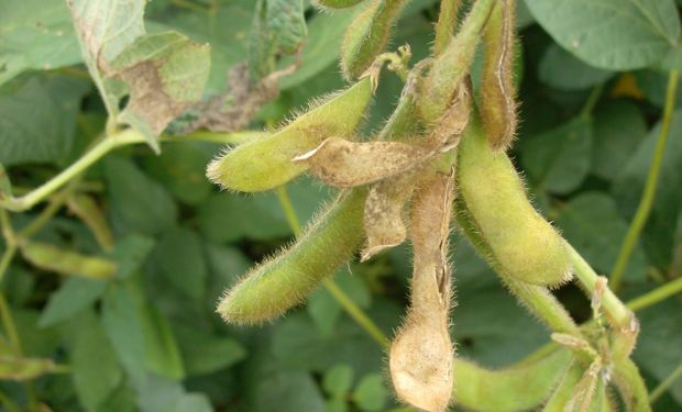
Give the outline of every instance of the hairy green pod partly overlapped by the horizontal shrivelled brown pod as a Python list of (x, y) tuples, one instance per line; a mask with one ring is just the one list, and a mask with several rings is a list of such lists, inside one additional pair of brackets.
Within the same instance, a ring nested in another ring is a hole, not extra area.
[(317, 147), (327, 137), (352, 135), (372, 92), (370, 77), (361, 79), (282, 130), (241, 144), (215, 159), (207, 168), (208, 178), (222, 188), (245, 192), (286, 183), (308, 168), (292, 162), (294, 157)]

